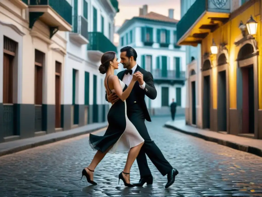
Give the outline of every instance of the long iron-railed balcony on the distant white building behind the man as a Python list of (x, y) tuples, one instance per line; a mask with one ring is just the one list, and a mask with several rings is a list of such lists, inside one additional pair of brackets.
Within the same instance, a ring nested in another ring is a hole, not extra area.
[(185, 71), (155, 69), (152, 70), (152, 75), (156, 84), (184, 85), (185, 83)]

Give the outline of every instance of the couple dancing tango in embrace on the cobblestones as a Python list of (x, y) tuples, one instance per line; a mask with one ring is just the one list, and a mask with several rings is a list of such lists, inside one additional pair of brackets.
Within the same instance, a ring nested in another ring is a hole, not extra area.
[[(109, 51), (103, 54), (99, 71), (106, 74), (104, 85), (106, 87), (106, 100), (112, 103), (108, 111), (108, 128), (103, 136), (90, 134), (90, 146), (97, 150), (90, 165), (83, 169), (82, 177), (93, 185), (94, 170), (107, 152), (128, 152), (127, 161), (123, 171), (119, 174), (125, 186), (143, 186), (153, 184), (153, 177), (148, 167), (146, 155), (156, 166), (159, 172), (167, 174), (168, 188), (175, 181), (178, 171), (165, 159), (160, 149), (151, 140), (145, 120), (151, 122), (148, 113), (145, 95), (155, 99), (157, 92), (154, 86), (153, 76), (150, 72), (137, 65), (137, 52), (130, 46), (120, 50), (120, 63), (126, 70), (114, 75), (118, 69), (116, 53)], [(130, 183), (130, 169), (137, 159), (140, 180), (138, 183)], [(119, 181), (118, 181), (119, 184)]]

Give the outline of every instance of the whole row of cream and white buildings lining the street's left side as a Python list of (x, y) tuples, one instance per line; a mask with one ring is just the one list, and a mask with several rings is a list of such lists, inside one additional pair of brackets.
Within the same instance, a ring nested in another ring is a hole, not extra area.
[[(0, 143), (106, 122), (117, 0), (0, 1)], [(73, 16), (73, 17), (72, 17)]]

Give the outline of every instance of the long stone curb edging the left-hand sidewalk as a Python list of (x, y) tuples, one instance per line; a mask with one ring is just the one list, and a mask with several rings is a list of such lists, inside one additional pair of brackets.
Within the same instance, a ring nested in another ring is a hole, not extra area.
[(103, 129), (103, 128), (106, 129), (107, 126), (106, 127), (105, 126), (98, 127), (98, 128), (90, 129), (88, 131), (82, 131), (82, 132), (79, 132), (79, 133), (68, 134), (66, 136), (55, 137), (55, 138), (47, 139), (47, 140), (44, 140), (44, 141), (41, 141), (41, 142), (36, 142), (36, 143), (32, 143), (32, 144), (26, 144), (26, 145), (22, 145), (22, 146), (19, 146), (19, 147), (10, 148), (10, 149), (7, 149), (7, 150), (0, 151), (0, 157), (4, 156), (4, 155), (24, 151), (26, 149), (34, 148), (34, 147), (37, 147), (37, 146), (43, 146), (43, 145), (58, 142), (58, 141), (61, 141), (61, 140), (64, 140), (64, 139), (69, 139), (69, 138), (81, 136), (81, 135), (84, 135), (84, 134), (92, 133), (94, 131), (97, 131), (97, 130), (100, 130), (100, 129)]

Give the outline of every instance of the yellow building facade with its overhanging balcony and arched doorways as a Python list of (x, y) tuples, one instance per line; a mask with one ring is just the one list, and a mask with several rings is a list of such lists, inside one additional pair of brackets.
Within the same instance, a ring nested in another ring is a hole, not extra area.
[[(196, 0), (177, 26), (180, 45), (201, 43), (203, 128), (262, 139), (261, 3)], [(257, 22), (253, 35), (250, 16)]]

